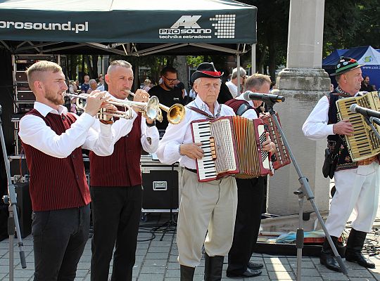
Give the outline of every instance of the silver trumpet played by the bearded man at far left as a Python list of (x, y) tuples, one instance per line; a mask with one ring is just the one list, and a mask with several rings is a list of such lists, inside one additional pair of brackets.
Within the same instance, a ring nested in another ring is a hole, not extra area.
[[(77, 98), (77, 107), (80, 109), (84, 109), (84, 105), (82, 103), (82, 100), (86, 100), (89, 96), (87, 93), (82, 93), (81, 95), (75, 95), (73, 93), (64, 93), (63, 96), (68, 96), (71, 98)], [(155, 97), (156, 98), (156, 97)], [(120, 110), (107, 110), (101, 108), (99, 111), (98, 117), (103, 119), (103, 115), (110, 115), (113, 117), (119, 117), (124, 119), (132, 119), (133, 112), (132, 107), (136, 107), (139, 111), (144, 112), (146, 116), (148, 116), (151, 119), (155, 119), (158, 115), (158, 98), (149, 100), (148, 103), (141, 103), (141, 102), (135, 102), (135, 101), (129, 101), (129, 100), (120, 100), (118, 98), (110, 98), (106, 101), (106, 103), (110, 105), (115, 105), (119, 107), (124, 107), (125, 111)]]

